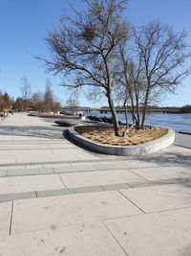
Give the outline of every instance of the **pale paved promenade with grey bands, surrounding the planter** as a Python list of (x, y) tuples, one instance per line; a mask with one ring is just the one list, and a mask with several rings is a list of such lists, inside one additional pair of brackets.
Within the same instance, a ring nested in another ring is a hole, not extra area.
[(191, 136), (133, 158), (43, 119), (0, 124), (0, 255), (191, 255)]

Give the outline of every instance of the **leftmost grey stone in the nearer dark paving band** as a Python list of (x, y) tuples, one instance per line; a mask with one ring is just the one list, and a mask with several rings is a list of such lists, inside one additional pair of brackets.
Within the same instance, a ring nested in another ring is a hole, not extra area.
[(0, 202), (27, 198), (36, 198), (35, 192), (2, 194), (0, 195)]

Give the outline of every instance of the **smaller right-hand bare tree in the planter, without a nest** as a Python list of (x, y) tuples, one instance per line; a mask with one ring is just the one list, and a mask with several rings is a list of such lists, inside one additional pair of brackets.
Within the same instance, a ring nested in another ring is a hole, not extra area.
[[(134, 30), (133, 54), (121, 47), (123, 84), (131, 99), (133, 120), (143, 128), (147, 106), (166, 92), (174, 93), (189, 69), (183, 67), (187, 52), (185, 33), (175, 33), (168, 25), (151, 22)], [(141, 110), (141, 117), (140, 117)]]

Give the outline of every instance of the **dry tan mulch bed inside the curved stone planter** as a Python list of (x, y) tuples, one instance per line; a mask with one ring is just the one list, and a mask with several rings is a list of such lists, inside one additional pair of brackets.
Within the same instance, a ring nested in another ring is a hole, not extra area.
[(145, 127), (143, 129), (133, 128), (122, 137), (125, 127), (120, 127), (120, 136), (115, 136), (113, 127), (86, 127), (74, 128), (80, 135), (93, 141), (116, 146), (133, 146), (159, 139), (168, 133), (168, 128)]

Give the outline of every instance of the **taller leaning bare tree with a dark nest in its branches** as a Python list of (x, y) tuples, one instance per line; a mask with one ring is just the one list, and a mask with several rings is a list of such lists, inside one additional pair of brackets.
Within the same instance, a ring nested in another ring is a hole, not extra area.
[[(52, 53), (44, 60), (49, 72), (63, 75), (63, 86), (89, 86), (96, 95), (107, 97), (115, 134), (119, 135), (117, 111), (114, 105), (118, 76), (118, 51), (128, 33), (128, 23), (122, 18), (126, 0), (86, 0), (87, 11), (63, 17), (61, 27), (46, 38)], [(71, 82), (69, 82), (71, 81)]]

